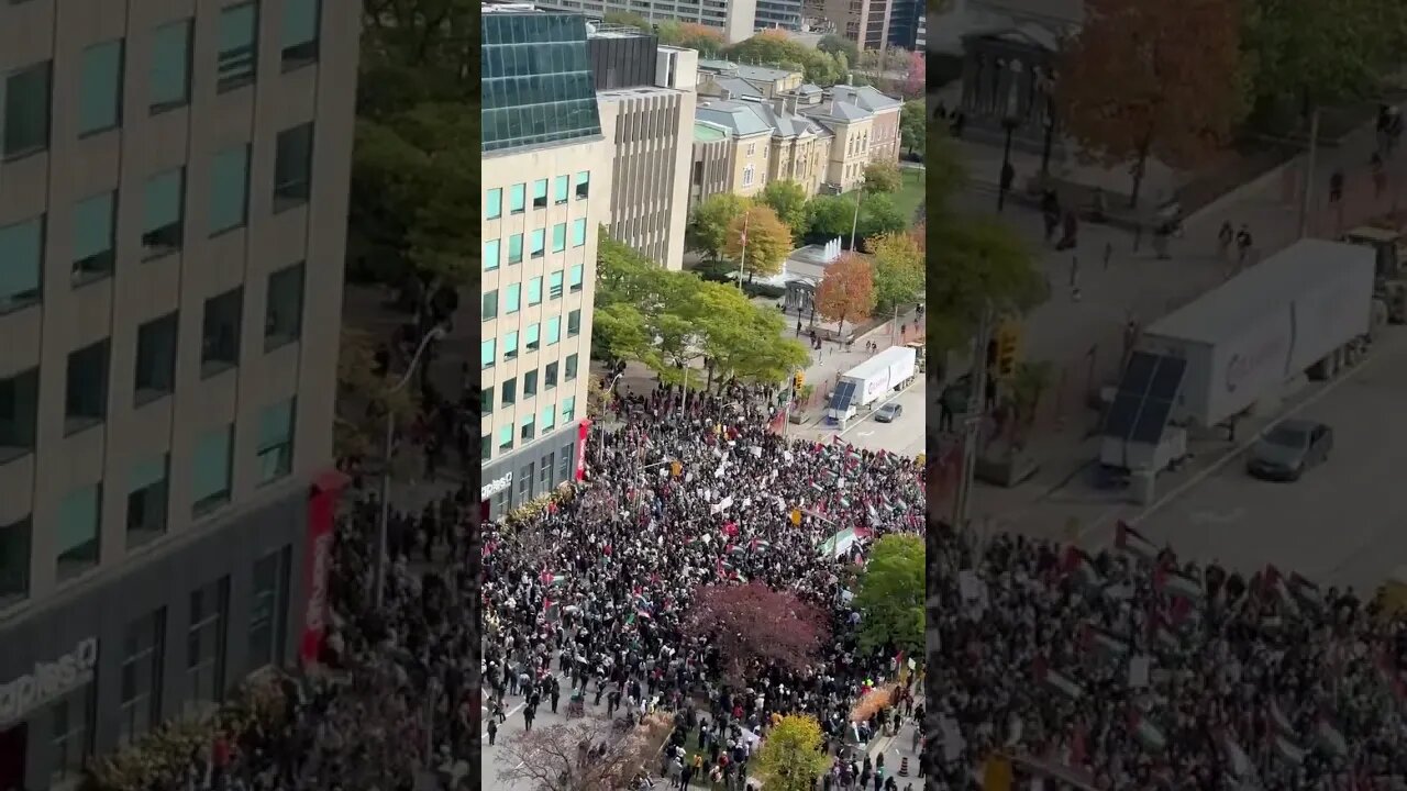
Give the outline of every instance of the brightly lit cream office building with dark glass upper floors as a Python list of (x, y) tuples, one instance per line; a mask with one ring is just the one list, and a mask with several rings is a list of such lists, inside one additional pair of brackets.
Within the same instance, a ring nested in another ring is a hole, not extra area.
[(483, 4), (483, 518), (582, 474), (611, 144), (587, 20)]

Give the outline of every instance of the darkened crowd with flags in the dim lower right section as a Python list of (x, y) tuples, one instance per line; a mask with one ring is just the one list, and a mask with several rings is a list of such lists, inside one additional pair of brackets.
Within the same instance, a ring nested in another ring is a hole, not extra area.
[(982, 788), (1403, 788), (1404, 621), (1273, 566), (1180, 560), (1119, 526), (1097, 555), (936, 532), (930, 773)]

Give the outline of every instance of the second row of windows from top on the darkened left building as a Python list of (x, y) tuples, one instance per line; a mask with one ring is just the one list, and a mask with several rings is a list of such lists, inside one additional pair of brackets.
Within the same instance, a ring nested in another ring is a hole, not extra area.
[[(274, 158), (273, 210), (308, 201), (312, 189), (312, 124), (279, 134)], [(207, 234), (217, 236), (249, 220), (249, 145), (217, 152), (210, 163)], [(173, 167), (142, 184), (142, 260), (180, 251), (186, 239), (186, 169)], [(0, 314), (35, 304), (44, 294), (44, 259), (51, 234), (48, 215), (0, 225)], [(106, 191), (76, 204), (69, 220), (72, 286), (110, 276), (117, 265), (117, 193)]]

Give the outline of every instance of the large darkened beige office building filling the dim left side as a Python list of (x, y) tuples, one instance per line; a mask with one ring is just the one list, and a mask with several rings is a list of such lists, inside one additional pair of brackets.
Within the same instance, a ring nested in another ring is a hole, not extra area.
[(68, 788), (321, 629), (343, 11), (0, 4), (0, 788)]

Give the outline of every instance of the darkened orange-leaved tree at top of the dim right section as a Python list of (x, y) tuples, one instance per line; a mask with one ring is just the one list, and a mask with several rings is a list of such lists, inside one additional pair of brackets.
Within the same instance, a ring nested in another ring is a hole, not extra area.
[(1238, 0), (1085, 0), (1057, 73), (1058, 117), (1107, 165), (1133, 165), (1130, 205), (1150, 156), (1195, 166), (1244, 118), (1240, 31)]

